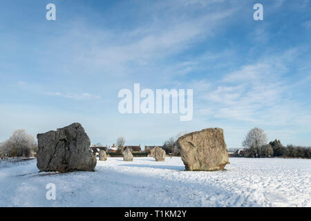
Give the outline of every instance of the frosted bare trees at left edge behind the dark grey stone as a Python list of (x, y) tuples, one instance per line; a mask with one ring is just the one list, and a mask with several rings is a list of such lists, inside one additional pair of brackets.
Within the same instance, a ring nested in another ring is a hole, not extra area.
[(14, 131), (12, 136), (0, 144), (0, 155), (8, 157), (30, 157), (37, 152), (35, 137), (26, 133), (24, 129)]

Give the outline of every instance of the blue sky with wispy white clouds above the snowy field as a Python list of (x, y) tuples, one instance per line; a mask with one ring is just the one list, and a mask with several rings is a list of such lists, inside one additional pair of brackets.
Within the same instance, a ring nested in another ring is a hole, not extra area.
[[(46, 20), (55, 3), (57, 20)], [(264, 20), (254, 21), (262, 3)], [(1, 1), (0, 141), (80, 122), (92, 144), (221, 127), (311, 145), (311, 2)], [(194, 89), (194, 119), (121, 115), (122, 88)]]

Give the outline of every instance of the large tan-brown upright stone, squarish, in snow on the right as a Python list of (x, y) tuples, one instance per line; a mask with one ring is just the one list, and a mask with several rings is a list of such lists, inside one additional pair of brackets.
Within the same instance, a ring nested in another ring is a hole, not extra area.
[(188, 171), (223, 170), (229, 162), (222, 128), (188, 133), (177, 141)]

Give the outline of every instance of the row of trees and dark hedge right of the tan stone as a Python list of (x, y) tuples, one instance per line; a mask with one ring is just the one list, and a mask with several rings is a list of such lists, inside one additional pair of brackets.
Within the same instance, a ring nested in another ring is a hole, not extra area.
[(311, 158), (311, 148), (294, 146), (292, 144), (283, 146), (280, 140), (274, 140), (267, 144), (267, 135), (261, 128), (252, 128), (243, 141), (245, 157), (299, 157)]

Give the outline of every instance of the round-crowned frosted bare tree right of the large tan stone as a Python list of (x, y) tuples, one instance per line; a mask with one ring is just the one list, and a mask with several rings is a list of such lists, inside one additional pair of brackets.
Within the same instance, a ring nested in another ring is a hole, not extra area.
[(267, 135), (261, 128), (252, 128), (250, 130), (242, 145), (247, 148), (247, 156), (261, 156), (261, 147), (267, 144)]

